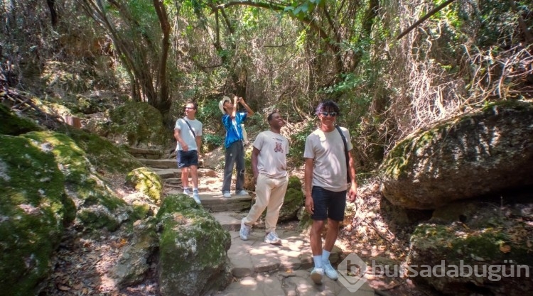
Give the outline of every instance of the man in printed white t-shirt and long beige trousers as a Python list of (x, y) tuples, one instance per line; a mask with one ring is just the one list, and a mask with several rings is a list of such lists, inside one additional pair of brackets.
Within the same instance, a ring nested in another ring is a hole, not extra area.
[(253, 144), (252, 170), (256, 198), (252, 209), (241, 221), (239, 235), (246, 241), (252, 225), (266, 209), (264, 242), (279, 244), (281, 239), (276, 234), (276, 224), (289, 185), (286, 171), (289, 141), (281, 136), (280, 130), (285, 121), (277, 111), (269, 114), (268, 121), (270, 130), (259, 133)]

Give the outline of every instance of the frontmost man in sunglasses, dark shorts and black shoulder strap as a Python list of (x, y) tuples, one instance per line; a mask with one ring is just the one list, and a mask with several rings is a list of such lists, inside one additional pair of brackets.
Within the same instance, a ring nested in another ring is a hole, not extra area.
[[(320, 127), (307, 136), (303, 158), (306, 211), (313, 220), (309, 239), (315, 268), (311, 271), (311, 280), (321, 284), (324, 273), (332, 280), (338, 278), (329, 256), (337, 240), (340, 221), (344, 219), (346, 199), (353, 202), (357, 196), (357, 182), (350, 133), (347, 128), (335, 124), (340, 115), (339, 106), (333, 101), (322, 102), (316, 107), (316, 115), (321, 121)], [(322, 246), (325, 220), (328, 231)]]

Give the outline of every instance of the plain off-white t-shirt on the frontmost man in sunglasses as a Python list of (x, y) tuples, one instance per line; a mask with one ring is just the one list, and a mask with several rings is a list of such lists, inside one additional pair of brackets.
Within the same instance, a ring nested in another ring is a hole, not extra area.
[[(352, 150), (348, 129), (341, 127), (340, 130), (348, 142), (348, 151)], [(330, 132), (323, 132), (318, 128), (307, 136), (303, 157), (314, 160), (313, 186), (333, 192), (348, 190), (344, 142), (337, 128)]]

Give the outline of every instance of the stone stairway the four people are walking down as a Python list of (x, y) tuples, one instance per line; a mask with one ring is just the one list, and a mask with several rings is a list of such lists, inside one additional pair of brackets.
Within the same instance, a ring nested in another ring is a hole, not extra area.
[[(156, 153), (145, 152), (144, 155)], [(161, 177), (164, 194), (183, 192), (181, 169), (177, 168), (175, 159), (138, 160)], [(224, 198), (222, 172), (208, 168), (198, 168), (198, 182), (202, 206), (230, 232), (232, 238), (227, 256), (232, 264), (234, 283), (215, 295), (375, 295), (366, 283), (357, 292), (349, 292), (340, 281), (333, 281), (325, 276), (323, 285), (314, 285), (309, 278), (313, 257), (308, 236), (295, 229), (294, 224), (287, 227), (280, 223), (276, 229), (283, 241), (281, 246), (264, 243), (264, 224), (261, 221), (254, 226), (249, 240), (242, 241), (239, 237), (240, 221), (252, 206), (254, 192), (250, 192), (249, 196), (232, 195), (229, 199)], [(189, 180), (189, 187), (191, 184)], [(235, 180), (232, 185), (235, 185)], [(235, 192), (234, 187), (232, 192)], [(330, 256), (331, 262), (338, 263), (341, 253), (340, 248), (335, 246)]]

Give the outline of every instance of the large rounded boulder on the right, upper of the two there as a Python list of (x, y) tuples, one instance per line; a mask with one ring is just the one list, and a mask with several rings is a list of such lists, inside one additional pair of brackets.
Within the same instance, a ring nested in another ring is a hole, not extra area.
[(491, 103), (417, 131), (397, 144), (379, 171), (392, 204), (435, 209), (533, 185), (533, 103)]

